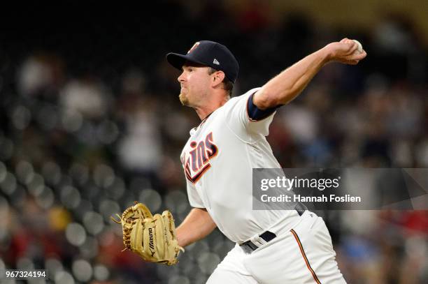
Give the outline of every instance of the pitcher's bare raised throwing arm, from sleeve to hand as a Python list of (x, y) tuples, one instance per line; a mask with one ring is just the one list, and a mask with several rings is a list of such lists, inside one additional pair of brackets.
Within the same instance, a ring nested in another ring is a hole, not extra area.
[(357, 43), (348, 38), (326, 45), (269, 80), (254, 94), (252, 103), (260, 110), (289, 103), (305, 89), (325, 64), (338, 61), (355, 65), (364, 59), (366, 52), (356, 52), (357, 48)]

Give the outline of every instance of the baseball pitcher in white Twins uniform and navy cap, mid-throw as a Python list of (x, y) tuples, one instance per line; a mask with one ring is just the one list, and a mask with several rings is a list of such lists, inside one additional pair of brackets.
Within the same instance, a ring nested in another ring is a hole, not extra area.
[(265, 138), (276, 109), (298, 96), (325, 64), (364, 59), (366, 52), (357, 48), (348, 38), (330, 43), (234, 98), (239, 67), (224, 45), (202, 40), (187, 54), (166, 55), (182, 70), (181, 103), (201, 119), (181, 154), (193, 209), (176, 230), (178, 245), (192, 244), (215, 227), (236, 242), (207, 283), (345, 283), (322, 218), (302, 204), (252, 210), (252, 168), (280, 168)]

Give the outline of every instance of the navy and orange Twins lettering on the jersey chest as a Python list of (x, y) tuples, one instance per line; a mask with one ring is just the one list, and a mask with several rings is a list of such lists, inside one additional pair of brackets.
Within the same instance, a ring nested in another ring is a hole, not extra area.
[[(218, 153), (218, 148), (213, 143), (213, 133), (206, 135), (205, 140), (190, 142), (191, 150), (185, 154), (182, 160), (186, 177), (193, 184), (211, 167), (208, 163)], [(184, 163), (185, 162), (185, 163)]]

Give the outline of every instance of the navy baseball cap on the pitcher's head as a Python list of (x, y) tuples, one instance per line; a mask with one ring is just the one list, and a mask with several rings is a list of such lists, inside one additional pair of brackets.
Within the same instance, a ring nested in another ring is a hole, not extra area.
[(201, 40), (194, 43), (187, 54), (166, 54), (166, 60), (178, 70), (181, 70), (186, 61), (210, 66), (215, 70), (222, 70), (227, 79), (236, 81), (239, 72), (239, 64), (227, 47), (210, 40)]

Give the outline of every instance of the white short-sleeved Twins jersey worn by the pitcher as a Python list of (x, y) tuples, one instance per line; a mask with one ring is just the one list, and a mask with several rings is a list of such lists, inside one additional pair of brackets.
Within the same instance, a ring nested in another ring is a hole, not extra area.
[(252, 210), (252, 168), (280, 168), (266, 141), (275, 112), (259, 121), (248, 115), (258, 89), (231, 98), (193, 128), (181, 154), (190, 205), (206, 208), (231, 241), (246, 241), (292, 214)]

